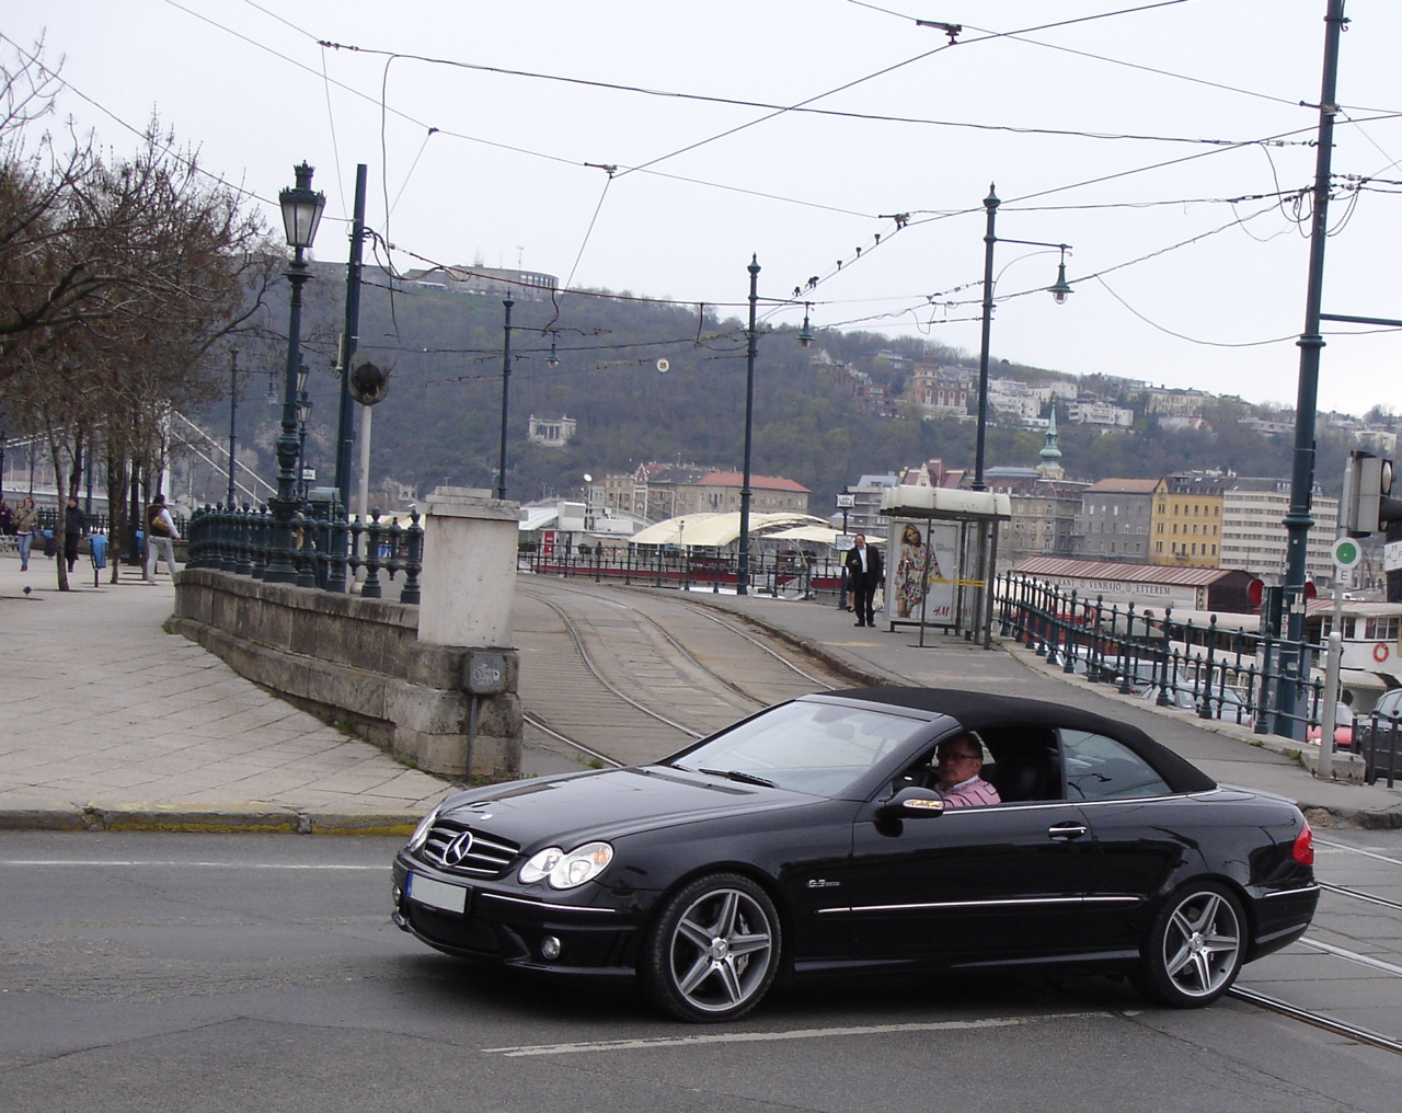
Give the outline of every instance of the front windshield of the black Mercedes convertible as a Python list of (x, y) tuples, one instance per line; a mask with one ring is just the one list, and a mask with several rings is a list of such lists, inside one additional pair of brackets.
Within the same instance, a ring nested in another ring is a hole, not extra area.
[(927, 726), (924, 719), (868, 708), (796, 701), (756, 715), (665, 764), (841, 796)]

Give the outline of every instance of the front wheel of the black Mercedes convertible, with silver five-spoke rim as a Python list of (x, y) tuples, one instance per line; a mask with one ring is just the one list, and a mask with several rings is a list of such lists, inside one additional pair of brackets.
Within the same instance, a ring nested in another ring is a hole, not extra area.
[(676, 892), (648, 929), (644, 994), (680, 1020), (743, 1016), (764, 999), (782, 956), (780, 917), (758, 885), (711, 873)]

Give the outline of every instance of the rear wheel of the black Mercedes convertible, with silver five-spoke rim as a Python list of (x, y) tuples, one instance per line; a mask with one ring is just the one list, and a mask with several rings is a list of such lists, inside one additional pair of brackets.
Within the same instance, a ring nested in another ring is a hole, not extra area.
[(1241, 901), (1217, 882), (1195, 882), (1165, 901), (1140, 949), (1134, 988), (1178, 1009), (1210, 1005), (1237, 980), (1246, 950)]

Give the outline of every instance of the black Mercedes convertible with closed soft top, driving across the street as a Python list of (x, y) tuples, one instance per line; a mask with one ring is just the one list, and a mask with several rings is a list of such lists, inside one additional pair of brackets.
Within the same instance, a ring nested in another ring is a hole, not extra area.
[[(1001, 803), (945, 807), (934, 751), (960, 735)], [(684, 1020), (872, 967), (1124, 973), (1192, 1008), (1304, 934), (1312, 863), (1294, 805), (1126, 723), (854, 688), (653, 764), (454, 793), (394, 859), (393, 918), (450, 955), (634, 978)]]

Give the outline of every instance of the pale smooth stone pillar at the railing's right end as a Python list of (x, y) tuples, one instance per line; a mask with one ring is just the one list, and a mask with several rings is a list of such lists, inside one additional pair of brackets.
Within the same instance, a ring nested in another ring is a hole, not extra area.
[(440, 486), (423, 519), (419, 638), (439, 645), (509, 646), (520, 505), (488, 491)]

